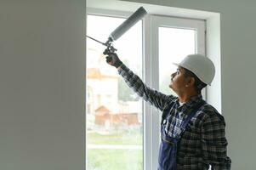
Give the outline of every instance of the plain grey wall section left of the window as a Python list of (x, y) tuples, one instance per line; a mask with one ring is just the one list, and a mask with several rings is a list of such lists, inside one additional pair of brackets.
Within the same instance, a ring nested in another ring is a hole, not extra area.
[(0, 169), (84, 169), (85, 3), (0, 1)]

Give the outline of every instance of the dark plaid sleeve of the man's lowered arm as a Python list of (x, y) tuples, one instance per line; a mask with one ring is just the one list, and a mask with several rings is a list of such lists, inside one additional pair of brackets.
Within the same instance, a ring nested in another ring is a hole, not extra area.
[(219, 113), (209, 114), (202, 124), (203, 161), (212, 170), (230, 170), (231, 160), (227, 156), (225, 120)]

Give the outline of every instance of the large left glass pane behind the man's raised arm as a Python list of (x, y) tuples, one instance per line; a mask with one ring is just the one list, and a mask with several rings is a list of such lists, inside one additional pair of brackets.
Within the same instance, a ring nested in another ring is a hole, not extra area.
[[(124, 19), (88, 15), (87, 35), (105, 42)], [(114, 42), (123, 63), (142, 75), (142, 22)], [(142, 101), (105, 63), (105, 46), (87, 38), (88, 170), (142, 170)]]

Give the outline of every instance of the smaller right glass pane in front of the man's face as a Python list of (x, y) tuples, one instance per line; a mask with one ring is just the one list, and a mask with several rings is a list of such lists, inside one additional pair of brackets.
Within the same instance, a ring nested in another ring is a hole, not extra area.
[[(164, 94), (174, 94), (169, 88), (171, 74), (187, 54), (196, 52), (196, 31), (180, 28), (159, 27), (159, 89)], [(174, 94), (176, 95), (176, 94)]]

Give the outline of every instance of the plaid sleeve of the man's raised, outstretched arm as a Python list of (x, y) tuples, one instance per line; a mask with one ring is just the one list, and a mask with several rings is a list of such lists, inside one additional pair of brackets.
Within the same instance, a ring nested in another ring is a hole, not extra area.
[(155, 89), (147, 87), (145, 83), (134, 74), (133, 71), (130, 71), (126, 65), (121, 65), (118, 69), (118, 74), (123, 77), (124, 81), (128, 84), (128, 87), (132, 88), (139, 97), (142, 97), (145, 101), (156, 106), (156, 108), (161, 111), (168, 99), (174, 98), (174, 96), (162, 94)]

